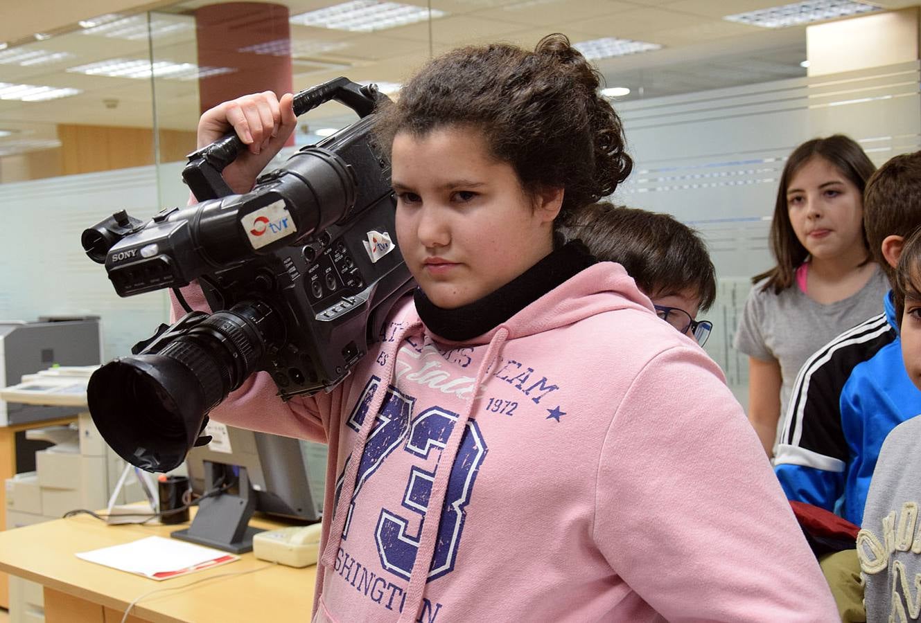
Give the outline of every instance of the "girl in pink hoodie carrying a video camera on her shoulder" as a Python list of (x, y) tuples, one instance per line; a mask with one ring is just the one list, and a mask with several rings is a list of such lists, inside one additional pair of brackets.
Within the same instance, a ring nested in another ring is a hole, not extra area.
[[(555, 236), (632, 167), (598, 88), (561, 35), (427, 63), (375, 121), (414, 296), (331, 392), (258, 373), (212, 412), (330, 445), (314, 620), (836, 617), (717, 365)], [(263, 93), (199, 135), (248, 190), (294, 126)]]

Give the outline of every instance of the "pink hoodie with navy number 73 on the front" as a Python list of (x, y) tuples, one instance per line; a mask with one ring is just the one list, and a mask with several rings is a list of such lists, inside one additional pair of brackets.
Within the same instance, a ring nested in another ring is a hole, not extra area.
[(330, 444), (315, 621), (838, 620), (717, 365), (619, 265), (464, 342), (406, 299), (342, 385), (275, 392), (212, 417)]

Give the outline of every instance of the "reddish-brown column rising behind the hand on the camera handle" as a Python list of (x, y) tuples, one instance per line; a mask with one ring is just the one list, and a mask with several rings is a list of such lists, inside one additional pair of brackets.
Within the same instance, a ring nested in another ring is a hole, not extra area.
[[(291, 91), (291, 28), (287, 6), (231, 2), (195, 11), (199, 67), (230, 67), (230, 74), (199, 80), (201, 110), (247, 93)], [(257, 53), (262, 52), (262, 53)]]

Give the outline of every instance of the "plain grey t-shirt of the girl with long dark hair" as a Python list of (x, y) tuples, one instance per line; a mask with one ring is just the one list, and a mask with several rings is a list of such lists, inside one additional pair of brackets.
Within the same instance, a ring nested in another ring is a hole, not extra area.
[[(839, 333), (879, 315), (889, 281), (877, 267), (857, 293), (829, 305), (813, 301), (796, 284), (780, 294), (765, 292), (765, 281), (755, 283), (745, 301), (735, 347), (755, 359), (780, 363), (780, 412), (786, 413), (799, 368)], [(777, 422), (778, 435), (782, 424)]]

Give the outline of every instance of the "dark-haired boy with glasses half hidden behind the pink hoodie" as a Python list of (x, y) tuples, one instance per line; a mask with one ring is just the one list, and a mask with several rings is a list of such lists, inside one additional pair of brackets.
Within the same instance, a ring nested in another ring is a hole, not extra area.
[(576, 213), (563, 231), (599, 260), (624, 266), (660, 318), (704, 345), (713, 323), (695, 318), (713, 305), (717, 279), (694, 229), (670, 214), (599, 202)]

